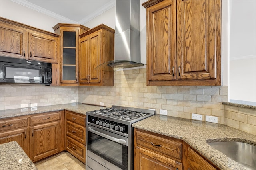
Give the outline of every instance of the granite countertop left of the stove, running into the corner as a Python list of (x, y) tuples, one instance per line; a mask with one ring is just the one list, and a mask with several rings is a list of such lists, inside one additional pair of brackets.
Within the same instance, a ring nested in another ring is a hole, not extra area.
[(36, 113), (45, 113), (49, 111), (59, 111), (59, 110), (68, 110), (74, 111), (76, 113), (80, 113), (86, 115), (86, 111), (99, 110), (106, 107), (102, 106), (94, 106), (82, 103), (72, 103), (72, 104), (57, 104), (51, 106), (39, 106), (39, 107), (28, 107), (22, 109), (9, 109), (9, 110), (1, 110), (0, 111), (0, 119), (7, 117), (15, 117), (22, 115), (32, 115)]

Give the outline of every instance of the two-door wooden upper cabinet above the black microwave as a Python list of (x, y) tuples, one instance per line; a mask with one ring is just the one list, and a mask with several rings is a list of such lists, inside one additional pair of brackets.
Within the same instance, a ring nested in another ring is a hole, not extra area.
[(0, 33), (0, 55), (58, 63), (58, 35), (2, 17)]

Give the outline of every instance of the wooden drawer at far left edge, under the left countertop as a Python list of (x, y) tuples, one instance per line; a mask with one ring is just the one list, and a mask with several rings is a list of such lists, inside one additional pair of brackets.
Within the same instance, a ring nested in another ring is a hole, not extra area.
[(0, 132), (28, 126), (28, 118), (0, 119)]

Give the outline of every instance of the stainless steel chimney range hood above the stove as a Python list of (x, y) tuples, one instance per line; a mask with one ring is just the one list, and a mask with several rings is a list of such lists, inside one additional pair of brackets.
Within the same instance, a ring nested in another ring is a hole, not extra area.
[[(140, 0), (116, 0), (115, 57), (98, 70), (143, 66), (140, 63)], [(105, 69), (104, 69), (105, 68)]]

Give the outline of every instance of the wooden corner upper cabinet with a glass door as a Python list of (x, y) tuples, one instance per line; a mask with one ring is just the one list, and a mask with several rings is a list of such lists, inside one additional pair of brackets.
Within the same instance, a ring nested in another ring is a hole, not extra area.
[(89, 28), (78, 24), (58, 23), (53, 29), (60, 35), (60, 85), (78, 86), (79, 35)]

